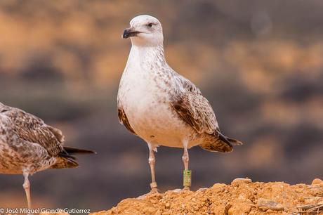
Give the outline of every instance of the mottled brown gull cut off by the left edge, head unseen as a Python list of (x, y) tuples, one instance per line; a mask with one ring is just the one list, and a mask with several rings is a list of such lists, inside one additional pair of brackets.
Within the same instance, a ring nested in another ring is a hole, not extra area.
[(32, 208), (28, 176), (44, 169), (74, 168), (74, 154), (90, 150), (64, 147), (64, 136), (43, 120), (0, 103), (0, 174), (23, 174), (23, 187)]

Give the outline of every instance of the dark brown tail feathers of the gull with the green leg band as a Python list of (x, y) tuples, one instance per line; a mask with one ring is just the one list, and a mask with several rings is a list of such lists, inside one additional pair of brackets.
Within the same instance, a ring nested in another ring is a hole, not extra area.
[(219, 132), (217, 137), (208, 135), (206, 141), (199, 146), (209, 152), (232, 152), (233, 145), (242, 145), (242, 142), (228, 138)]

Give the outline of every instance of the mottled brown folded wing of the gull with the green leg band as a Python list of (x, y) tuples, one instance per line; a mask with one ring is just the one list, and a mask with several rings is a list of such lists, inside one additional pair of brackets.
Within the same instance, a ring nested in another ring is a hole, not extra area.
[(173, 96), (171, 106), (198, 133), (217, 134), (218, 122), (209, 101), (189, 80), (183, 78), (180, 82), (183, 89)]

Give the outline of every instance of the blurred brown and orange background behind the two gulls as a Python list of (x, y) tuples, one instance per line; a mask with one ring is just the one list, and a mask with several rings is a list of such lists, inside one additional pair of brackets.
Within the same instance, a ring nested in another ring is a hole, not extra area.
[[(192, 190), (238, 177), (323, 178), (323, 2), (0, 1), (0, 101), (57, 126), (98, 155), (30, 177), (34, 207), (108, 209), (150, 190), (147, 145), (117, 118), (117, 89), (136, 15), (164, 26), (169, 64), (195, 82), (228, 154), (190, 150)], [(182, 187), (182, 150), (159, 148), (162, 191)], [(0, 175), (1, 207), (25, 206), (22, 176)]]

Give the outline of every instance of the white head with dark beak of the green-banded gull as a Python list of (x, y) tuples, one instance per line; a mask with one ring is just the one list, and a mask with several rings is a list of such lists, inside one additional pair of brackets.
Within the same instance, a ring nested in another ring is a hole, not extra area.
[(159, 46), (163, 44), (163, 28), (157, 18), (151, 15), (138, 15), (130, 21), (130, 27), (124, 30), (122, 38), (131, 39), (136, 46)]

